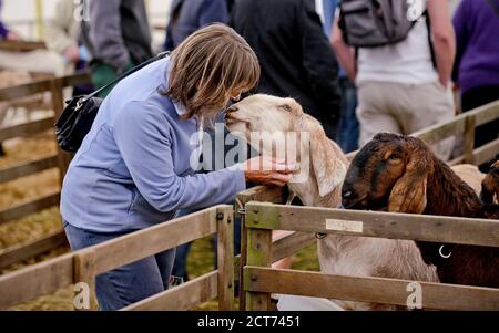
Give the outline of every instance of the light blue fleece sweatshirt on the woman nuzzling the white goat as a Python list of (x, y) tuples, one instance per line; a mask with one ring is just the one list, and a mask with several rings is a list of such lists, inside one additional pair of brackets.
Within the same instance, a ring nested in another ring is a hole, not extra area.
[(170, 59), (121, 81), (103, 102), (65, 175), (61, 214), (70, 225), (98, 231), (143, 229), (177, 209), (230, 202), (245, 189), (242, 170), (194, 174), (198, 129), (181, 121), (182, 107), (161, 94)]

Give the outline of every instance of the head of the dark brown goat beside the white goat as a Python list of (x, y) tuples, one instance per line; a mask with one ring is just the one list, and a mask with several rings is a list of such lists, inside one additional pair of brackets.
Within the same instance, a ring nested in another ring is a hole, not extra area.
[(376, 135), (350, 164), (342, 189), (343, 206), (421, 214), (432, 156), (418, 138)]

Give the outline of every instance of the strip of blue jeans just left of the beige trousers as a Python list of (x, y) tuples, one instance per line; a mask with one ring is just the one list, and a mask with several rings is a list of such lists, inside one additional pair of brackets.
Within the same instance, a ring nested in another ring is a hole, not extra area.
[(350, 153), (358, 148), (359, 126), (355, 110), (357, 108), (357, 89), (348, 79), (340, 79), (342, 117), (339, 118), (336, 143), (343, 152)]

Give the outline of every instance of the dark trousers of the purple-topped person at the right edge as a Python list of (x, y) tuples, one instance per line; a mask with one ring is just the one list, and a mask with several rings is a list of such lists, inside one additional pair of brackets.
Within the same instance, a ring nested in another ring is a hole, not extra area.
[[(467, 112), (499, 100), (499, 85), (471, 89), (461, 95), (462, 112)], [(499, 137), (499, 119), (478, 126), (475, 147), (480, 147)]]

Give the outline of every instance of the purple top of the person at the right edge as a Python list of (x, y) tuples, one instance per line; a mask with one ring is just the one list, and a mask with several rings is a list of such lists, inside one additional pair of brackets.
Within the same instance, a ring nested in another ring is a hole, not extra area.
[[(499, 6), (499, 0), (495, 0)], [(486, 0), (462, 0), (452, 20), (457, 38), (454, 81), (466, 91), (499, 85), (499, 15)]]

